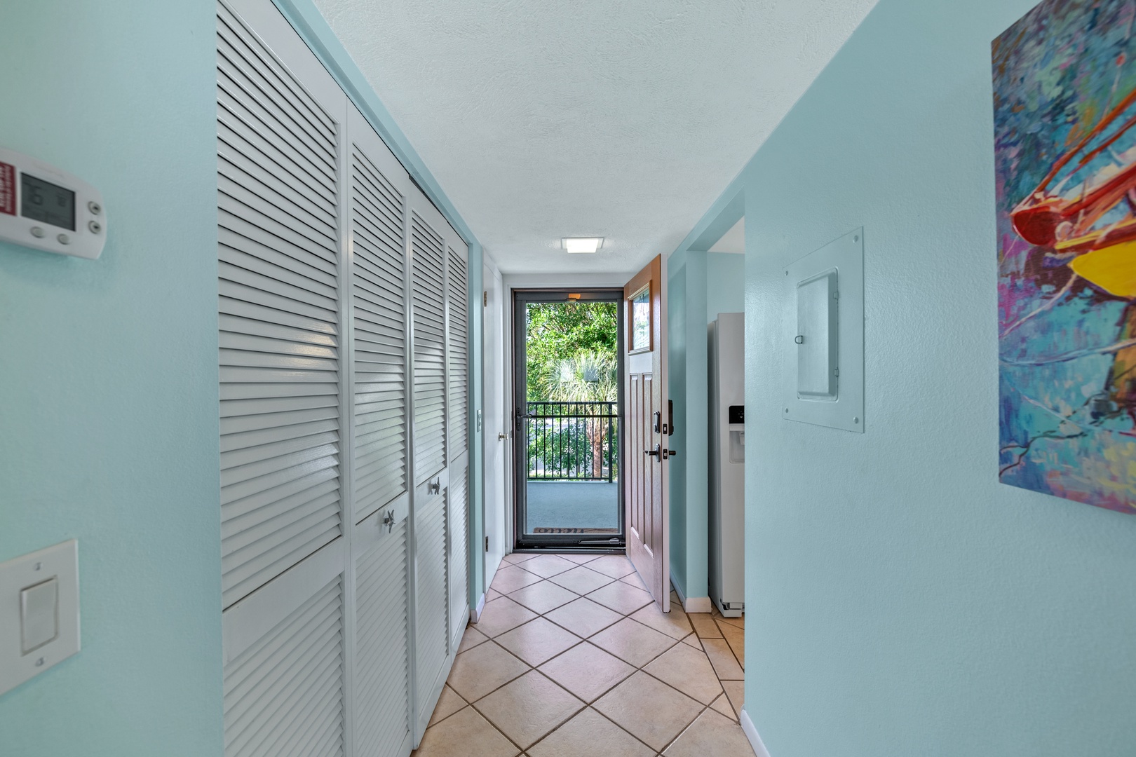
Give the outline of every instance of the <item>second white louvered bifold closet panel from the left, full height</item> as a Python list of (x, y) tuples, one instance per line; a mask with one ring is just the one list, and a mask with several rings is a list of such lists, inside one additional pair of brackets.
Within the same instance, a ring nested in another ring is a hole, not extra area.
[[(410, 729), (406, 191), (409, 179), (352, 106), (351, 312), (356, 560), (354, 746), (404, 757)], [(427, 703), (433, 709), (433, 703)]]

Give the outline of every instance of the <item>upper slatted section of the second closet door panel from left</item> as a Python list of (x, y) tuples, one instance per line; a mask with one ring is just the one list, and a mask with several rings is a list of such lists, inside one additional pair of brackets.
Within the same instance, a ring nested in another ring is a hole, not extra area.
[[(407, 490), (403, 197), (358, 143), (351, 201), (358, 522)], [(382, 271), (381, 286), (371, 283), (374, 271)]]

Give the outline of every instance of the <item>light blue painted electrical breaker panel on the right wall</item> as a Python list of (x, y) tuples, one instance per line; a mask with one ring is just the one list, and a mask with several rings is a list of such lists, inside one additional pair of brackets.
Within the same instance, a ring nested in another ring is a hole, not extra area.
[(863, 228), (785, 267), (782, 418), (863, 432)]

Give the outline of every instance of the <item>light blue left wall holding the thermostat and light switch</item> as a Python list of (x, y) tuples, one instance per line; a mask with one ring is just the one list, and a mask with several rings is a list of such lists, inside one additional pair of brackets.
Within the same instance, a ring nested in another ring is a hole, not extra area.
[(82, 651), (5, 757), (222, 754), (214, 6), (7, 2), (0, 144), (98, 186), (97, 261), (0, 244), (0, 561), (75, 537)]

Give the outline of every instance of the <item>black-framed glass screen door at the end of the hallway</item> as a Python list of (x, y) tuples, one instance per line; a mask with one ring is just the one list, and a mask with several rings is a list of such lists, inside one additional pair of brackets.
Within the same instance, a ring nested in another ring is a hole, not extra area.
[(621, 297), (513, 293), (517, 547), (625, 545)]

